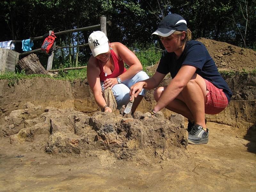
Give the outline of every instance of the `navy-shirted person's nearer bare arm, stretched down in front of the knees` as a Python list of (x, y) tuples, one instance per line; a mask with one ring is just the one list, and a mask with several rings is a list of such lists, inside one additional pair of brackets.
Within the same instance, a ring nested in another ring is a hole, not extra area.
[(180, 94), (183, 88), (187, 86), (188, 81), (192, 78), (195, 72), (196, 67), (191, 65), (183, 65), (161, 95), (157, 104), (153, 108), (153, 111), (160, 111), (172, 100), (174, 100)]

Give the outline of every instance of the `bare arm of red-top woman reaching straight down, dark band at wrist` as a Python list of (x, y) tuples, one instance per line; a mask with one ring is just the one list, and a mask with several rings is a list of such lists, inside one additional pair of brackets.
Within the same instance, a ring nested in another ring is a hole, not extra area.
[[(107, 103), (102, 96), (99, 74), (100, 68), (97, 67), (96, 59), (91, 57), (87, 66), (87, 79), (96, 103), (103, 109)], [(112, 112), (110, 108), (105, 108), (104, 111)]]

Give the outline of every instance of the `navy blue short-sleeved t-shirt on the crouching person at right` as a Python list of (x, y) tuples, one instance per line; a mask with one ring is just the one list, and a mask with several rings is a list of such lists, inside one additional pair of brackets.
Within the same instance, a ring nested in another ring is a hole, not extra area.
[(185, 48), (178, 60), (175, 59), (174, 52), (167, 52), (165, 50), (159, 65), (156, 69), (157, 72), (167, 74), (170, 72), (172, 78), (174, 78), (182, 65), (195, 66), (196, 73), (204, 79), (210, 81), (219, 89), (223, 89), (223, 92), (227, 96), (228, 102), (232, 96), (232, 92), (228, 87), (226, 81), (220, 75), (215, 62), (210, 56), (209, 52), (205, 48), (204, 44), (199, 41), (186, 42)]

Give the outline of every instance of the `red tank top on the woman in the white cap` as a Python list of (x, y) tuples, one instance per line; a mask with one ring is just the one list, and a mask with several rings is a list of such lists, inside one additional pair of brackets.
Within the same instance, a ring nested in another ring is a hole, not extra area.
[(116, 56), (116, 53), (110, 48), (110, 54), (112, 56), (112, 59), (114, 61), (114, 71), (105, 76), (105, 72), (103, 70), (102, 65), (100, 64), (100, 61), (98, 60), (98, 66), (100, 68), (100, 81), (105, 81), (108, 78), (116, 78), (119, 75), (123, 74), (127, 69), (124, 67), (124, 61), (119, 60), (118, 57)]

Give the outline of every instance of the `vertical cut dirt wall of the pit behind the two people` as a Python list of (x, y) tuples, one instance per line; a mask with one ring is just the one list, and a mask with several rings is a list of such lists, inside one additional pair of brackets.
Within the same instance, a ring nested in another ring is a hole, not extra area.
[[(208, 121), (228, 124), (234, 128), (247, 129), (256, 122), (256, 77), (226, 76), (227, 83), (234, 93), (228, 107), (217, 115), (206, 115)], [(165, 79), (162, 84), (168, 84)], [(148, 91), (138, 110), (148, 112), (155, 104), (153, 90)], [(43, 107), (75, 110), (92, 113), (99, 110), (93, 99), (87, 81), (75, 82), (54, 80), (49, 78), (34, 78), (20, 80), (15, 86), (8, 86), (7, 80), (0, 80), (0, 121), (11, 111), (24, 109), (27, 102)], [(165, 116), (172, 112), (162, 110)]]

